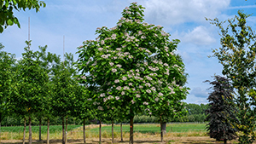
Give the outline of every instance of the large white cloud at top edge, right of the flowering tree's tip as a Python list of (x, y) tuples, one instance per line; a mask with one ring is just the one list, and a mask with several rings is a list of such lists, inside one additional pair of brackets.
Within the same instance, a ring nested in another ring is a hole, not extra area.
[(230, 0), (148, 0), (143, 4), (145, 20), (175, 25), (183, 22), (205, 21), (215, 18), (228, 8)]

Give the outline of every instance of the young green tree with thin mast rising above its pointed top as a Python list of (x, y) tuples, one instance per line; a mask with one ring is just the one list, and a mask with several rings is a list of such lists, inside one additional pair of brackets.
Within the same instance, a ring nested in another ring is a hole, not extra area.
[(11, 102), (15, 106), (16, 113), (24, 113), (29, 121), (29, 143), (32, 143), (32, 114), (44, 110), (44, 95), (47, 95), (46, 84), (49, 77), (45, 69), (40, 66), (38, 51), (29, 49), (27, 42), (25, 53), (19, 60), (18, 71), (15, 73), (15, 93)]

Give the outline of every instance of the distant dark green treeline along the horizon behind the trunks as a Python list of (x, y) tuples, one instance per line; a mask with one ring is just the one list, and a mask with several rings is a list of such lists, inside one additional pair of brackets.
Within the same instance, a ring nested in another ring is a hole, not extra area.
[[(185, 107), (188, 111), (187, 115), (183, 118), (170, 118), (167, 122), (203, 122), (206, 118), (205, 110), (207, 109), (208, 105), (198, 105), (198, 104), (187, 104), (184, 103)], [(39, 117), (32, 117), (32, 125), (39, 125)], [(149, 117), (144, 113), (139, 113), (134, 117), (134, 123), (158, 123), (160, 121), (159, 118), (156, 117)], [(51, 125), (61, 125), (62, 119), (61, 117), (52, 117), (49, 118), (49, 122)], [(96, 120), (89, 120), (85, 121), (86, 124), (96, 124)], [(111, 124), (109, 121), (105, 121), (105, 124)], [(120, 123), (120, 122), (115, 122)], [(123, 123), (129, 123), (129, 119), (125, 119)], [(28, 124), (28, 123), (27, 123)], [(47, 119), (42, 118), (42, 124), (47, 125)], [(83, 119), (79, 118), (67, 118), (67, 124), (83, 124)], [(19, 118), (15, 116), (7, 116), (3, 118), (1, 123), (2, 126), (14, 126), (14, 125), (24, 125), (24, 118)]]

